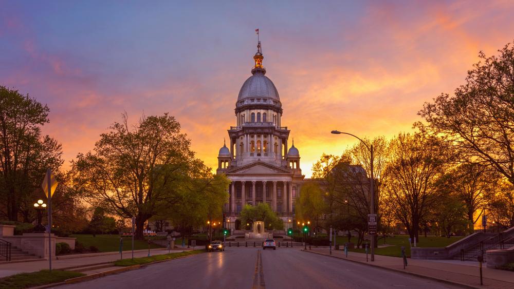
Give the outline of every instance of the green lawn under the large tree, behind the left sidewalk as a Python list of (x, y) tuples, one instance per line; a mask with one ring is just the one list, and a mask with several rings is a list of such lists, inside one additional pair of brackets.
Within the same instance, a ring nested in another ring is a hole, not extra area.
[[(93, 237), (93, 235), (76, 234), (71, 237), (77, 238), (77, 241), (86, 248), (89, 246), (97, 247), (100, 252), (117, 252), (120, 250), (119, 235), (96, 235), (96, 237)], [(152, 239), (152, 237), (150, 237), (150, 239)], [(161, 246), (150, 244), (150, 248), (161, 248)], [(123, 237), (123, 251), (130, 249), (132, 249), (132, 238)], [(134, 240), (134, 249), (148, 249), (148, 241), (146, 241), (146, 239), (144, 241)]]

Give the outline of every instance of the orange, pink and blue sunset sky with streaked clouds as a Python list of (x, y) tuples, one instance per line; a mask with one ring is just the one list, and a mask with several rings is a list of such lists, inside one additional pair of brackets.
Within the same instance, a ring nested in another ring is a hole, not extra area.
[(0, 85), (50, 108), (64, 168), (127, 112), (169, 112), (217, 166), (260, 30), (282, 125), (306, 177), (323, 152), (412, 131), (464, 84), (479, 51), (514, 41), (512, 1), (4, 1)]

